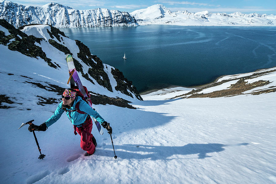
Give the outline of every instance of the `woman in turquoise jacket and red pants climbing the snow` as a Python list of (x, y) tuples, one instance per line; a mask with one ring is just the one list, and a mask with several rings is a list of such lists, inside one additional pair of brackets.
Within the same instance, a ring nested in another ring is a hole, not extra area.
[(66, 89), (62, 95), (62, 102), (57, 107), (55, 113), (41, 125), (31, 124), (29, 131), (46, 131), (49, 126), (54, 124), (61, 117), (63, 112), (66, 112), (67, 117), (74, 125), (74, 133), (81, 136), (80, 146), (84, 151), (87, 151), (85, 156), (90, 156), (94, 153), (97, 142), (92, 135), (92, 119), (94, 117), (102, 126), (112, 134), (112, 128), (109, 126), (99, 113), (92, 109), (80, 96), (76, 96), (74, 89)]

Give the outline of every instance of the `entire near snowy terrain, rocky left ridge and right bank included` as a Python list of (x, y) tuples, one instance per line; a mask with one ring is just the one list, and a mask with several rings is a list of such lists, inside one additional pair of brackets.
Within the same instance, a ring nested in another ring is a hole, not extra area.
[[(113, 128), (117, 159), (109, 134), (100, 135), (95, 127), (96, 151), (84, 156), (80, 136), (65, 114), (45, 132), (36, 132), (43, 160), (28, 127), (17, 129), (33, 119), (40, 125), (53, 115), (68, 87), (66, 52), (92, 91), (93, 107)], [(1, 20), (0, 58), (2, 183), (276, 181), (275, 67), (224, 76), (198, 89), (158, 90), (141, 101), (122, 73), (49, 25), (20, 31)], [(136, 109), (123, 108), (128, 104), (122, 98)]]

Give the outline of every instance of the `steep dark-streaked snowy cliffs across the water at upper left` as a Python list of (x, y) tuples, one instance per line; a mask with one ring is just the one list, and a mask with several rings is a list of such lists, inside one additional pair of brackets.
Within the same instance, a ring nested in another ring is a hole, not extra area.
[(5, 19), (16, 28), (29, 24), (48, 24), (58, 28), (138, 25), (128, 12), (105, 8), (73, 10), (54, 2), (35, 7), (0, 0), (0, 19)]

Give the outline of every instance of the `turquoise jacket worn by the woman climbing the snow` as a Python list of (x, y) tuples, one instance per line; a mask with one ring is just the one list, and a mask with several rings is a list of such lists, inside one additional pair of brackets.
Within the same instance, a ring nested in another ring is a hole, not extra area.
[[(77, 102), (80, 102), (79, 110), (85, 112), (85, 114), (78, 113), (77, 111), (71, 112), (71, 110), (75, 110), (75, 105)], [(47, 121), (45, 121), (47, 127), (53, 125), (56, 121), (58, 121), (58, 119), (61, 117), (62, 113), (65, 111), (62, 109), (62, 107), (63, 107), (62, 104), (63, 104), (63, 102), (61, 102), (59, 104), (59, 106), (56, 108), (55, 113)], [(79, 96), (76, 96), (75, 101), (73, 102), (71, 108), (70, 109), (66, 108), (66, 110), (67, 110), (66, 115), (73, 125), (80, 125), (80, 124), (84, 123), (87, 116), (94, 117), (97, 121), (100, 122), (100, 124), (102, 124), (102, 122), (105, 121), (100, 116), (99, 113), (97, 113), (95, 110), (93, 110), (88, 105), (88, 103), (86, 103), (84, 100), (82, 100), (82, 98)]]

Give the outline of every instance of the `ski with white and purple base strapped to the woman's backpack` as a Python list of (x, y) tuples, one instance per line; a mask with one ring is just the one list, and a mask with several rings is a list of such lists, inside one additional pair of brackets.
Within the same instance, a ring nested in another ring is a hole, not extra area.
[[(85, 90), (84, 90), (84, 88), (82, 86), (82, 82), (79, 79), (79, 75), (78, 75), (78, 73), (76, 71), (73, 58), (72, 58), (72, 56), (70, 54), (66, 55), (66, 61), (67, 61), (67, 66), (68, 66), (68, 70), (69, 70), (69, 74), (70, 74), (70, 77), (69, 77), (69, 80), (68, 80), (67, 84), (69, 84), (69, 82), (70, 82), (70, 86), (72, 87), (72, 85), (73, 85), (72, 78), (73, 78), (74, 81), (75, 81), (75, 83), (76, 83), (76, 85), (78, 86), (80, 92), (82, 93), (82, 95), (84, 96), (84, 98), (87, 99), (88, 98), (87, 94), (86, 94), (86, 92), (85, 92)], [(92, 104), (88, 100), (86, 102), (92, 108)], [(97, 120), (95, 120), (94, 117), (92, 117), (92, 119), (95, 122), (95, 124), (96, 124), (96, 126), (98, 128), (99, 133), (102, 135), (103, 134), (103, 130), (102, 130), (101, 124)]]

